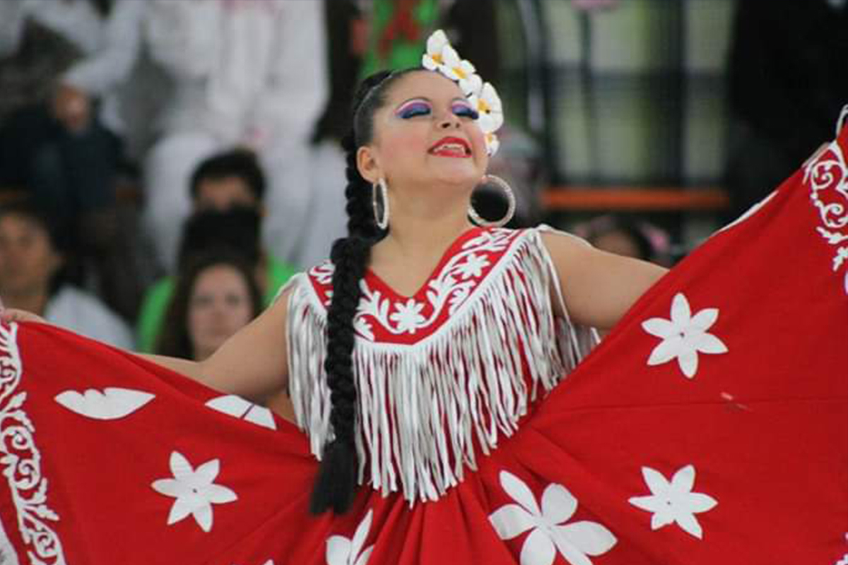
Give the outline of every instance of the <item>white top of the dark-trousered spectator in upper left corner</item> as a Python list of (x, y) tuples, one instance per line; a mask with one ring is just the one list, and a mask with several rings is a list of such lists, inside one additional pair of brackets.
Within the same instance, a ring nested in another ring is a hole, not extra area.
[(100, 98), (103, 124), (113, 131), (123, 130), (115, 90), (137, 60), (146, 5), (145, 0), (115, 0), (103, 18), (92, 3), (82, 0), (3, 0), (0, 56), (18, 47), (26, 19), (55, 31), (84, 54), (62, 80)]

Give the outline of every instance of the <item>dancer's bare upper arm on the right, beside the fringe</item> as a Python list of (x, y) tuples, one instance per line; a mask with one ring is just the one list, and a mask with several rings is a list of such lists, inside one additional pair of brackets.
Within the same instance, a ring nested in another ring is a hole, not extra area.
[(553, 259), (568, 315), (576, 324), (609, 330), (667, 273), (654, 263), (600, 251), (572, 235), (541, 235)]

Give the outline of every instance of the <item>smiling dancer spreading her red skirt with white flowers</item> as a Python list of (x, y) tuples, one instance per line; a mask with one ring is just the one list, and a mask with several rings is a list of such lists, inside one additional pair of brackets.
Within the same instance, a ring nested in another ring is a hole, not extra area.
[[(433, 54), (445, 60), (450, 52), (442, 45)], [(40, 519), (38, 531), (52, 540), (64, 535), (86, 562), (586, 565), (764, 562), (775, 551), (790, 561), (841, 557), (844, 509), (804, 509), (828, 507), (834, 496), (848, 500), (841, 460), (848, 434), (840, 428), (848, 399), (828, 392), (834, 370), (848, 369), (848, 360), (829, 350), (802, 356), (804, 379), (770, 379), (766, 390), (739, 368), (767, 346), (796, 370), (797, 355), (780, 355), (789, 349), (788, 333), (745, 341), (734, 330), (745, 325), (740, 313), (749, 313), (739, 301), (722, 302), (721, 323), (717, 308), (700, 306), (717, 300), (703, 282), (708, 269), (721, 288), (744, 271), (727, 246), (767, 226), (775, 207), (806, 206), (806, 195), (782, 191), (763, 208), (768, 213), (717, 235), (701, 263), (664, 277), (600, 346), (604, 351), (557, 386), (587, 352), (586, 328), (615, 324), (663, 270), (546, 230), (471, 227), (467, 205), (493, 141), (483, 130), (492, 131), (477, 125), (481, 105), (438, 69), (378, 75), (361, 89), (346, 144), (350, 236), (333, 246), (332, 263), (298, 275), (203, 362), (151, 357), (218, 391), (248, 398), (287, 391), (306, 435), (284, 422), (270, 432), (204, 412), (197, 400), (217, 393), (137, 357), (97, 357), (106, 367), (88, 376), (86, 386), (96, 388), (85, 395), (61, 374), (31, 379), (25, 407), (17, 407), (37, 412), (33, 442), (50, 446), (52, 460), (74, 457), (74, 446), (59, 440), (59, 429), (73, 424), (75, 441), (98, 446), (86, 451), (87, 468), (46, 471), (75, 485), (80, 494), (70, 496), (92, 512), (73, 523)], [(372, 184), (387, 198), (380, 205), (378, 194), (373, 208)], [(754, 252), (767, 246), (776, 253), (778, 245), (788, 260), (802, 260), (806, 281), (812, 274), (823, 280), (827, 246), (799, 255), (785, 240), (784, 228), (801, 234), (810, 214), (778, 217), (779, 230)], [(736, 254), (753, 263), (747, 250)], [(722, 258), (731, 260), (727, 272), (713, 269)], [(784, 285), (794, 276), (786, 273)], [(784, 307), (801, 301), (816, 326), (848, 337), (827, 313), (844, 308), (845, 296), (817, 286), (817, 301), (800, 284)], [(669, 302), (671, 320), (659, 318)], [(766, 316), (745, 308), (755, 319)], [(734, 324), (723, 321), (728, 316)], [(774, 320), (785, 324), (785, 316)], [(808, 321), (791, 318), (795, 330), (816, 332)], [(641, 335), (639, 325), (661, 343)], [(19, 349), (43, 344), (82, 361), (84, 348), (73, 336), (35, 324), (0, 330), (15, 344), (0, 347), (9, 367), (18, 366)], [(726, 354), (711, 331), (733, 352)], [(649, 368), (646, 344), (655, 347)], [(38, 375), (51, 359), (24, 361)], [(114, 386), (119, 369), (124, 391), (99, 393)], [(8, 381), (15, 379), (10, 369)], [(116, 396), (123, 402), (113, 402)], [(70, 414), (52, 407), (53, 398)], [(795, 429), (799, 421), (802, 429)], [(817, 440), (825, 425), (840, 439), (828, 439), (827, 449)], [(115, 479), (99, 471), (114, 453), (99, 447), (106, 441), (143, 445), (145, 456)], [(764, 463), (778, 446), (777, 464)], [(797, 480), (811, 454), (816, 481)], [(173, 478), (164, 478), (169, 468)], [(795, 489), (767, 496), (788, 477)], [(54, 488), (65, 495), (64, 487)], [(20, 494), (24, 487), (10, 489)], [(637, 496), (649, 489), (651, 496)], [(42, 507), (66, 512), (62, 498), (39, 492)], [(8, 528), (26, 508), (16, 510), (0, 507)], [(798, 527), (806, 518), (814, 527)], [(98, 535), (112, 544), (92, 541)], [(14, 546), (21, 547), (28, 548)]]

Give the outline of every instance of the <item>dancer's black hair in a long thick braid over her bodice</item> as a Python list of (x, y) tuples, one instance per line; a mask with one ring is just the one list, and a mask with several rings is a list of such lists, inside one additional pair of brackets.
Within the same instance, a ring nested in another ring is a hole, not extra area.
[(420, 69), (381, 71), (366, 78), (354, 95), (353, 130), (342, 140), (348, 161), (348, 186), (344, 191), (348, 201), (348, 236), (336, 240), (330, 253), (335, 271), (332, 274), (332, 302), (327, 310), (324, 362), (332, 402), (330, 424), (334, 438), (324, 446), (321, 468), (315, 478), (310, 501), (314, 514), (331, 508), (337, 514), (347, 512), (353, 502), (359, 471), (354, 442), (353, 321), (360, 302), (360, 280), (371, 258), (371, 246), (386, 232), (377, 229), (371, 210), (371, 183), (360, 174), (356, 152), (373, 140), (374, 114), (385, 104), (389, 86), (415, 70)]

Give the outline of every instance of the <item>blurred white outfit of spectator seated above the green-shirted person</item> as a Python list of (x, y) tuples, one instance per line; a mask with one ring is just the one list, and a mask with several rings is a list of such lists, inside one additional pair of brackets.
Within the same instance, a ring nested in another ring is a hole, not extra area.
[(175, 84), (165, 136), (145, 165), (145, 223), (162, 263), (175, 263), (192, 169), (238, 145), (254, 147), (269, 180), (265, 246), (299, 263), (314, 221), (309, 141), (327, 90), (322, 4), (152, 0), (146, 34)]

